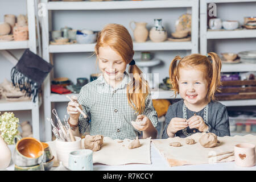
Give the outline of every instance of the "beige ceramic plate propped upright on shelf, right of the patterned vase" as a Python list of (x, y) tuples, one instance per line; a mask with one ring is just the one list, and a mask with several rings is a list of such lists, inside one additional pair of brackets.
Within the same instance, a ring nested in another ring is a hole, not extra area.
[(176, 31), (185, 30), (191, 32), (191, 14), (183, 14), (176, 20)]

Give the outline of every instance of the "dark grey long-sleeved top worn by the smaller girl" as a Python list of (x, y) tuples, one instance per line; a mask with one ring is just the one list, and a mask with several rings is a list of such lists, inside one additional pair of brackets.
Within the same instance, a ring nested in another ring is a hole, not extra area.
[[(218, 137), (230, 136), (229, 131), (229, 117), (226, 106), (220, 102), (210, 101), (209, 104), (202, 110), (195, 112), (189, 110), (184, 106), (184, 100), (180, 100), (173, 105), (170, 105), (166, 113), (166, 124), (164, 126), (164, 131), (162, 138), (168, 138), (167, 127), (172, 118), (191, 118), (194, 114), (200, 115), (204, 122), (209, 127), (209, 132), (216, 134)], [(197, 129), (189, 129), (187, 127), (184, 130), (179, 130), (175, 134), (175, 137), (185, 138), (191, 134), (200, 132)]]

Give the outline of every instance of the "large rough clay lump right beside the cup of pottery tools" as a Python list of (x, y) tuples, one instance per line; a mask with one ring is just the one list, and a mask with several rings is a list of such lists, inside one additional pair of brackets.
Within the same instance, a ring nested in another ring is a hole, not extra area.
[(103, 136), (102, 135), (95, 135), (90, 136), (86, 135), (84, 139), (84, 148), (90, 149), (92, 151), (98, 151), (101, 149), (101, 145), (103, 143)]

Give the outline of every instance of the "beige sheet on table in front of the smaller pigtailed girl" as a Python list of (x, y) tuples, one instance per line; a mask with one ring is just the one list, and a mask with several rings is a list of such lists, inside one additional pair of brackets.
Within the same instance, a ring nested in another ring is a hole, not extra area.
[[(208, 158), (208, 155), (218, 154), (220, 152), (232, 151), (234, 146), (238, 143), (252, 143), (256, 144), (255, 135), (245, 135), (245, 136), (234, 136), (234, 137), (218, 137), (220, 144), (212, 148), (204, 148), (199, 143), (199, 138), (201, 133), (196, 133), (188, 138), (192, 138), (196, 141), (195, 144), (186, 144), (186, 138), (168, 138), (168, 139), (158, 139), (152, 140), (154, 146), (158, 149), (161, 155), (167, 160), (170, 167), (173, 166), (183, 166), (187, 164), (208, 164), (216, 163), (218, 159), (229, 154), (220, 155), (213, 158)], [(170, 146), (171, 142), (180, 142), (182, 146), (173, 147)], [(234, 160), (234, 155), (229, 158), (222, 159), (219, 162), (230, 162)]]

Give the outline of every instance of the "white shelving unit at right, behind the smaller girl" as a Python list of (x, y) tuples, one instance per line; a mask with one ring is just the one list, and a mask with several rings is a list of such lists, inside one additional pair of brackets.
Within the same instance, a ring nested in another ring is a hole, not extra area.
[[(210, 39), (242, 39), (256, 38), (256, 30), (207, 30), (207, 6), (208, 3), (246, 3), (256, 2), (255, 0), (201, 0), (200, 1), (200, 53), (207, 55), (207, 43)], [(222, 64), (221, 72), (255, 72), (256, 64)], [(232, 100), (220, 101), (226, 106), (255, 106), (256, 100)]]

